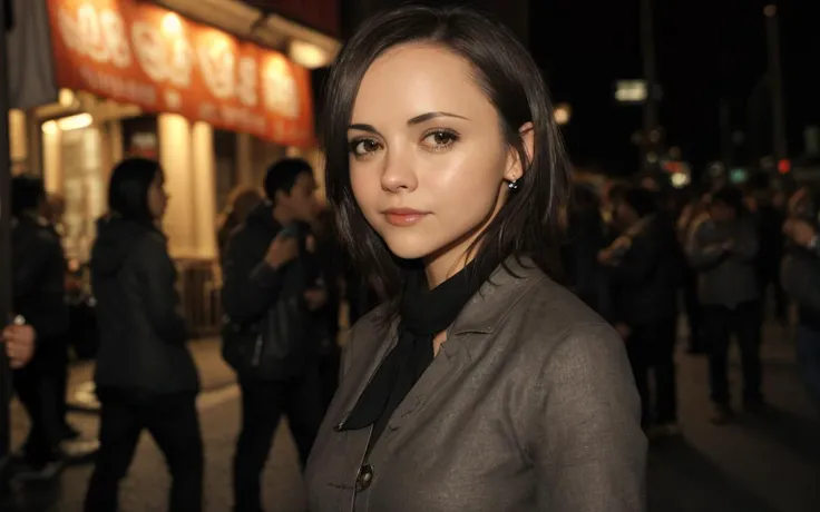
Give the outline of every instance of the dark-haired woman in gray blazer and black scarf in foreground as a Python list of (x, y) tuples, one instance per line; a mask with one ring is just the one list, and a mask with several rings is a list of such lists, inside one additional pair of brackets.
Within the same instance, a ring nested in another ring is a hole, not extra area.
[(469, 10), (406, 7), (363, 24), (328, 90), (328, 196), (391, 301), (351, 333), (310, 510), (642, 511), (623, 342), (546, 275), (567, 160), (527, 51)]

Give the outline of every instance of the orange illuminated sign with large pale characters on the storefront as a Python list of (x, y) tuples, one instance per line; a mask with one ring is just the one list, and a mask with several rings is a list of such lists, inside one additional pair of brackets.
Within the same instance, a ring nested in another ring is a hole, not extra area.
[(47, 0), (57, 82), (286, 146), (310, 146), (310, 73), (136, 0)]

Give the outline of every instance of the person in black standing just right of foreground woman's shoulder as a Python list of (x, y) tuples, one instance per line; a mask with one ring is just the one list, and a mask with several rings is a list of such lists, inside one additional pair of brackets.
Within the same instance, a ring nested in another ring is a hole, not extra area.
[[(613, 286), (615, 328), (624, 337), (643, 402), (643, 424), (653, 435), (675, 435), (676, 287), (680, 262), (674, 230), (660, 215), (650, 190), (627, 190), (615, 207), (623, 228), (598, 260)], [(655, 406), (650, 397), (648, 372), (655, 374)]]

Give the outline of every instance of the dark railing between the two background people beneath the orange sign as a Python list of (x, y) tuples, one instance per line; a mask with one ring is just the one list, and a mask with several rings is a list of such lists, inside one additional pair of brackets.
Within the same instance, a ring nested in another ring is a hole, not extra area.
[(178, 259), (177, 287), (194, 337), (214, 336), (222, 324), (219, 266), (216, 260)]

